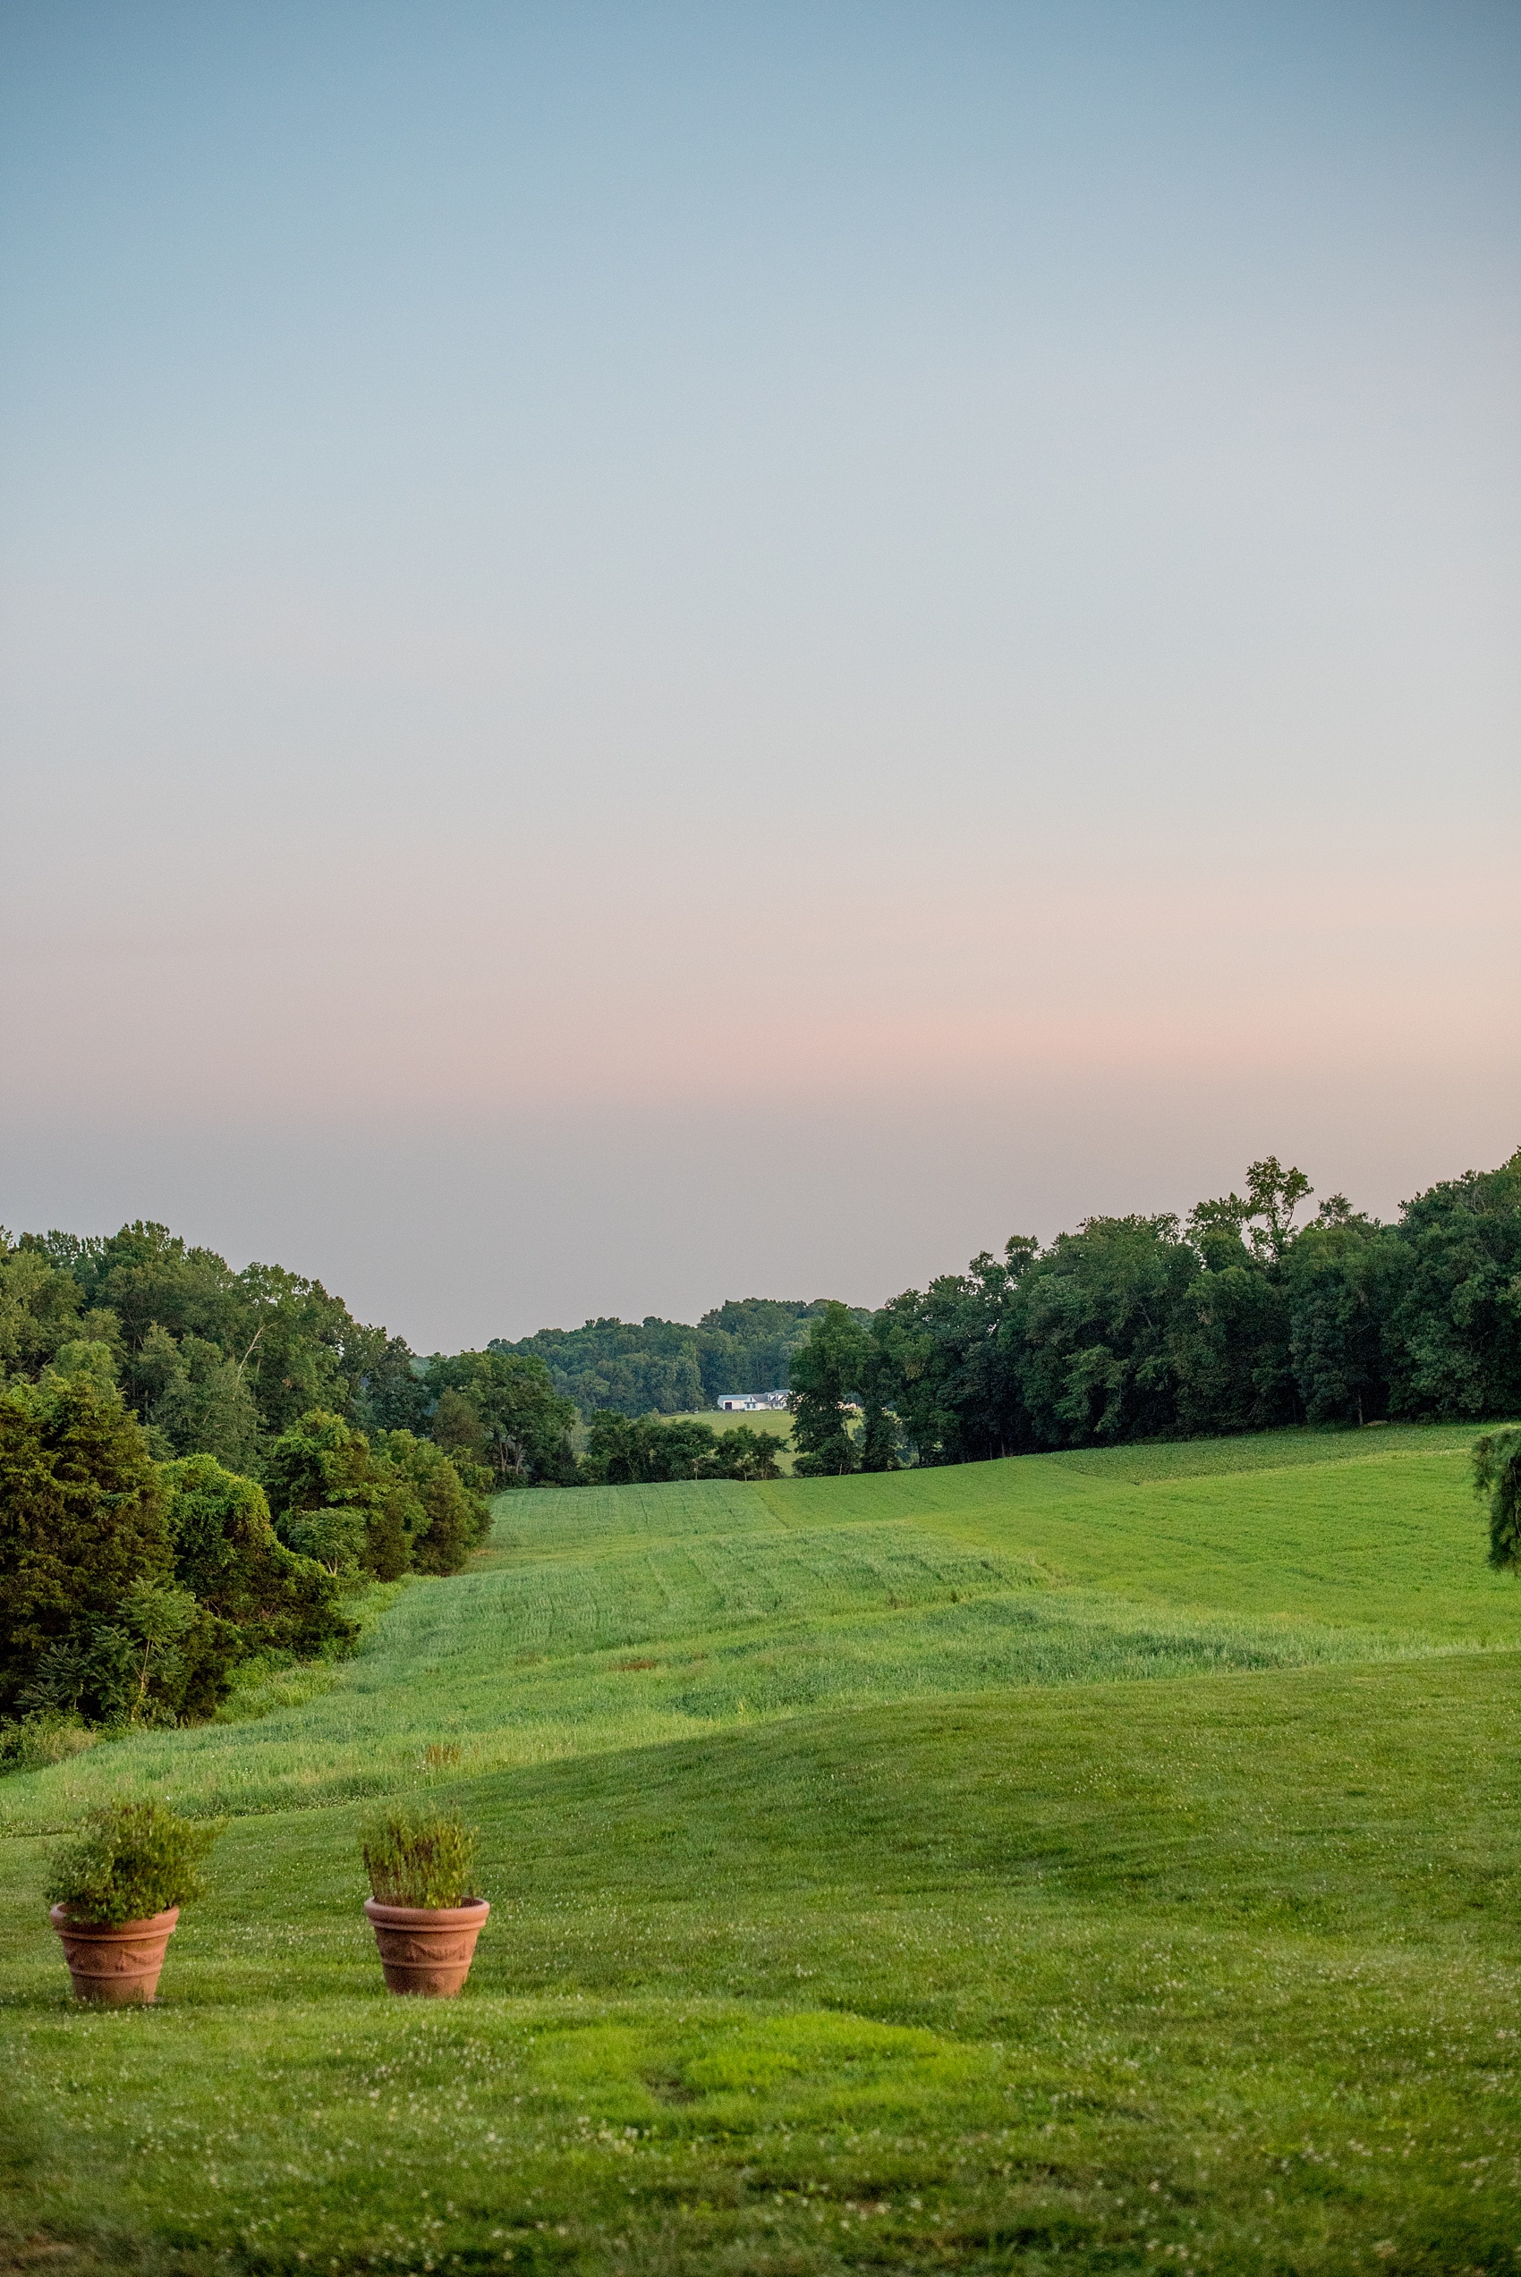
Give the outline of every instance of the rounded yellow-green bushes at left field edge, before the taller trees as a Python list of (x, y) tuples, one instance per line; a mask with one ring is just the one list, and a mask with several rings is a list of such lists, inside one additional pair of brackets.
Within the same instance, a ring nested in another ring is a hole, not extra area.
[(198, 1721), (248, 1664), (348, 1651), (355, 1585), (453, 1573), (490, 1526), (476, 1466), (326, 1409), (266, 1444), (262, 1478), (207, 1453), (157, 1460), (121, 1389), (71, 1357), (0, 1384), (11, 1737), (27, 1721)]

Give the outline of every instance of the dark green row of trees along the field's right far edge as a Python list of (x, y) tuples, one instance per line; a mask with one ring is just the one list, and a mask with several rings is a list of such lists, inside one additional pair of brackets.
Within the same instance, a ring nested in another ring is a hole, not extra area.
[(1521, 1414), (1521, 1150), (1393, 1225), (1275, 1157), (1177, 1216), (1011, 1236), (792, 1357), (801, 1473)]

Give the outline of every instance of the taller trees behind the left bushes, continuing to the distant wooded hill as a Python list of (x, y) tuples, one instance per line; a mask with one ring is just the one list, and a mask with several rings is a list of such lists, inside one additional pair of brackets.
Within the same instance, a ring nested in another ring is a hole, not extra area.
[(569, 1487), (599, 1473), (601, 1457), (587, 1471), (574, 1450), (583, 1419), (688, 1414), (724, 1391), (786, 1387), (822, 1309), (740, 1298), (697, 1327), (603, 1318), (421, 1357), (321, 1282), (285, 1266), (235, 1273), (166, 1225), (0, 1230), (0, 1382), (91, 1373), (118, 1389), (159, 1460), (216, 1455), (250, 1478), (280, 1432), (326, 1412), (369, 1435), (428, 1439), (492, 1489)]

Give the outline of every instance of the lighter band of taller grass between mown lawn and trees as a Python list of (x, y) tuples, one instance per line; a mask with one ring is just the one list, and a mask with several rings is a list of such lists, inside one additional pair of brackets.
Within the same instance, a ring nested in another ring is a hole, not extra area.
[(817, 1708), (1507, 1646), (1521, 1592), (1485, 1567), (1464, 1450), (1286, 1432), (1141, 1482), (1061, 1455), (503, 1496), (476, 1569), (387, 1592), (357, 1660), (271, 1676), (257, 1721), (0, 1781), (0, 1828), (112, 1792), (273, 1810)]

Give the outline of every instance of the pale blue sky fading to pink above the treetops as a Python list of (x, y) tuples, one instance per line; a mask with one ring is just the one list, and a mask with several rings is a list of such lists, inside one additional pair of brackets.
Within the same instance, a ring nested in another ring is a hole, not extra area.
[(2, 0), (0, 1223), (419, 1350), (1521, 1145), (1512, 0)]

